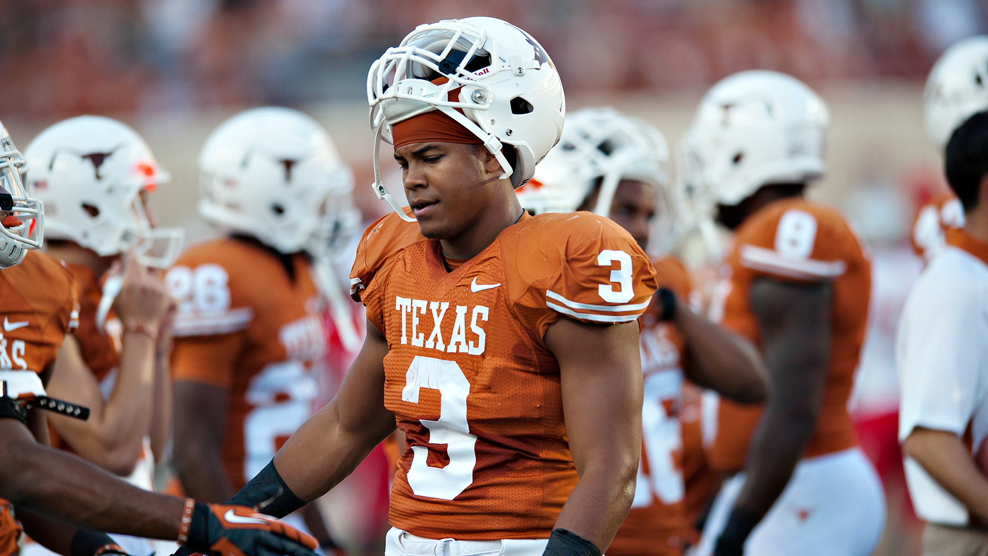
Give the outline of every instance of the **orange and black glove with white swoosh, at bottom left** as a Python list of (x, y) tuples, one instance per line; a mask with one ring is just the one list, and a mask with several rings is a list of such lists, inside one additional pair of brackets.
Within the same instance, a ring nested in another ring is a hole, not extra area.
[(309, 535), (246, 506), (196, 504), (192, 499), (182, 530), (179, 543), (185, 548), (218, 556), (315, 556), (319, 546)]

